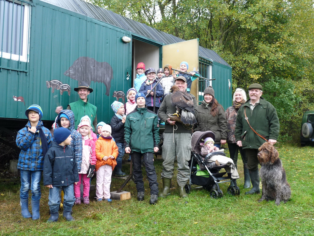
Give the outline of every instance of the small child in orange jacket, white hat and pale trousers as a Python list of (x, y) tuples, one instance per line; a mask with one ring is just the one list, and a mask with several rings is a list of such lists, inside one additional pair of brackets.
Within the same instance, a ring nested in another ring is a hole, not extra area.
[(115, 168), (118, 147), (111, 137), (111, 126), (105, 124), (101, 128), (101, 136), (96, 141), (96, 197), (97, 201), (111, 202), (111, 174)]

